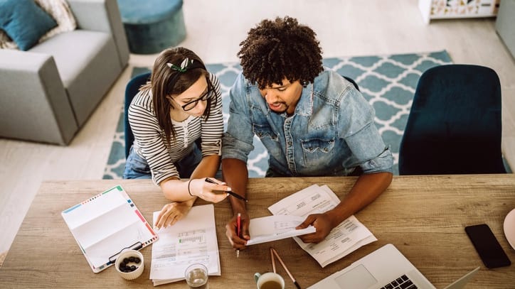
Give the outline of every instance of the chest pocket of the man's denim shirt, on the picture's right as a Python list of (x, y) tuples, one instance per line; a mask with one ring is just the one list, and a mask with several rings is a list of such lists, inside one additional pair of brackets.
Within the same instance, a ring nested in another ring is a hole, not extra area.
[(301, 140), (304, 163), (319, 166), (331, 163), (334, 154), (334, 138), (309, 138)]

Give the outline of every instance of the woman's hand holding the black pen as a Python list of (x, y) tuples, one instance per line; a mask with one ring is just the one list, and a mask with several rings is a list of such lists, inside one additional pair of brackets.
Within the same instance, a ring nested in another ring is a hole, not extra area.
[(224, 191), (230, 191), (225, 182), (209, 178), (211, 182), (206, 182), (205, 178), (189, 180), (188, 191), (190, 195), (200, 197), (208, 202), (221, 202), (229, 194)]

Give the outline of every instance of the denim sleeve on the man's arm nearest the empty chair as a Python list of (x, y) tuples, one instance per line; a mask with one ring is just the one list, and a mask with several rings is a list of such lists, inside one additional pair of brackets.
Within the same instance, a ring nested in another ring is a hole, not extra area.
[(374, 124), (375, 111), (361, 93), (349, 87), (339, 110), (339, 134), (359, 161), (363, 173), (392, 173), (393, 156)]

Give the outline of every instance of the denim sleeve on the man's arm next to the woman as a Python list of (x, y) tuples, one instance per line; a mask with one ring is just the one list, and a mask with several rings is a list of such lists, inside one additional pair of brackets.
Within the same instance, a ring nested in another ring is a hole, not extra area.
[(247, 163), (253, 151), (253, 129), (250, 122), (248, 83), (240, 73), (229, 92), (229, 120), (222, 138), (222, 159), (236, 158)]

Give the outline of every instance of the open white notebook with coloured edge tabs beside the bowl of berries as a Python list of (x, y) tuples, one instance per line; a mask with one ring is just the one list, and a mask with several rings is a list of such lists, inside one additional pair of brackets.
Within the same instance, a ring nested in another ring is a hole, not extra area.
[(139, 250), (158, 239), (120, 185), (65, 209), (61, 215), (95, 273), (114, 264), (122, 251)]

